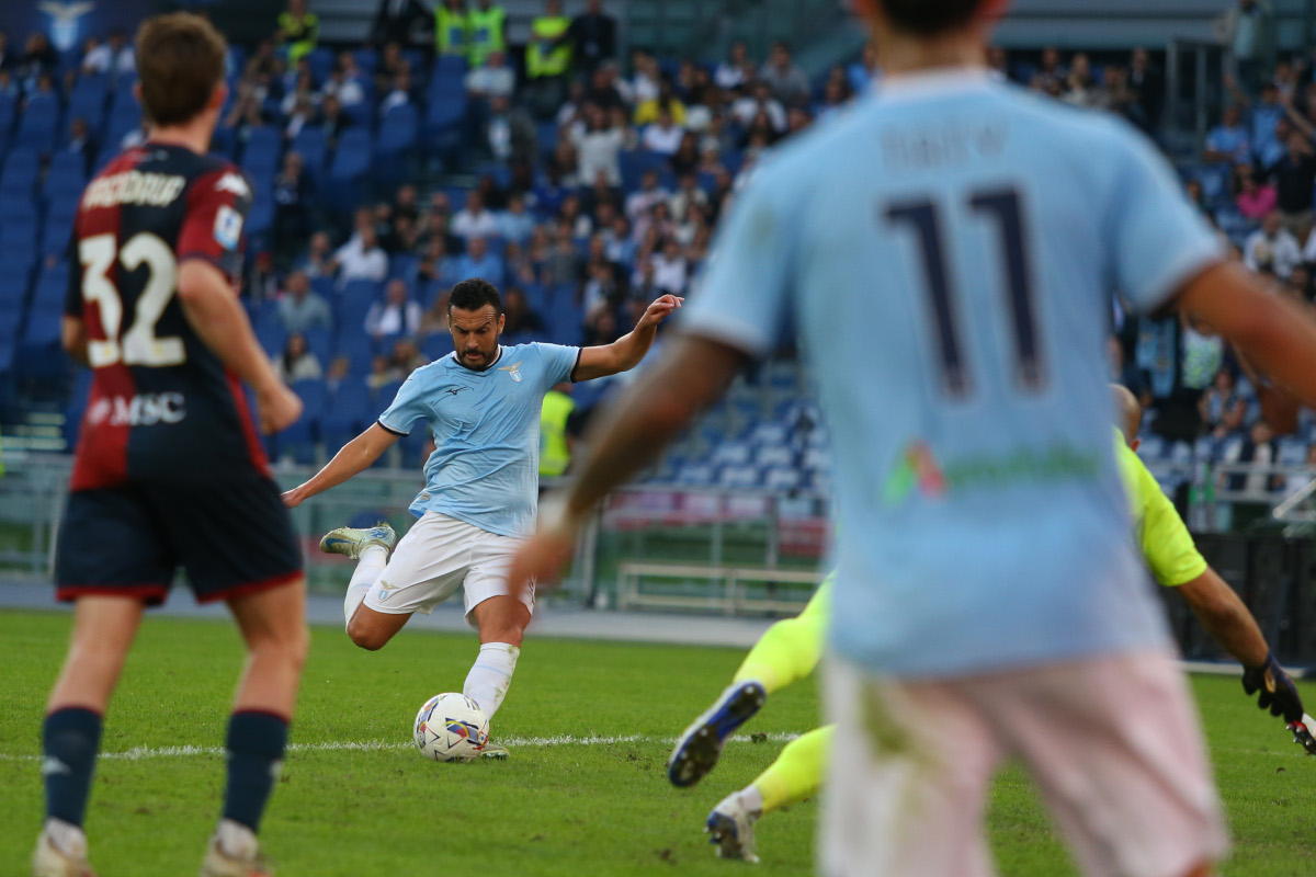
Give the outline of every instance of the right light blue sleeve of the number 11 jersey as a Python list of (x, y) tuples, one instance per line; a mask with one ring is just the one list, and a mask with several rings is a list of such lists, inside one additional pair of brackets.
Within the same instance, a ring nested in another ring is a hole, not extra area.
[(1120, 167), (1104, 222), (1105, 251), (1120, 292), (1146, 313), (1223, 254), (1165, 158), (1132, 128), (1116, 133), (1111, 153)]

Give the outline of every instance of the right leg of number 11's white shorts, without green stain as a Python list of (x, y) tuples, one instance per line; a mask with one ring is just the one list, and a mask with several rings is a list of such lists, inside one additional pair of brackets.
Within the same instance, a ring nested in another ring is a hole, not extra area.
[(1179, 877), (1224, 855), (1196, 710), (1169, 652), (1038, 669), (978, 693), (1084, 873)]

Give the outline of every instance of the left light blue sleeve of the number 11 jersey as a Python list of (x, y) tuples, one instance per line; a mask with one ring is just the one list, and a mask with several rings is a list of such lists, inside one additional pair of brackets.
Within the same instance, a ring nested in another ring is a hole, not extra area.
[(736, 196), (682, 314), (686, 331), (755, 358), (776, 346), (792, 289), (795, 235), (779, 181), (761, 171)]

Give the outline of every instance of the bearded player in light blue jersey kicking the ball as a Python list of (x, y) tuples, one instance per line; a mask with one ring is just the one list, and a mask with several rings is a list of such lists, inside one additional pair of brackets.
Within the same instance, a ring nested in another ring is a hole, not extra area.
[[(449, 298), (454, 352), (412, 372), (379, 421), (349, 442), (284, 502), (342, 484), (428, 423), (434, 452), (425, 489), (411, 505), (420, 521), (397, 540), (392, 527), (340, 527), (322, 551), (358, 560), (343, 613), (362, 648), (383, 648), (412, 613), (429, 613), (458, 588), (480, 653), (462, 693), (494, 718), (507, 696), (534, 609), (533, 589), (512, 594), (507, 569), (521, 536), (534, 529), (538, 497), (540, 409), (557, 384), (605, 377), (640, 364), (675, 296), (649, 305), (634, 330), (611, 344), (503, 347), (503, 301), (487, 280), (463, 280)], [(395, 548), (396, 546), (396, 548)], [(505, 753), (488, 747), (488, 753)]]

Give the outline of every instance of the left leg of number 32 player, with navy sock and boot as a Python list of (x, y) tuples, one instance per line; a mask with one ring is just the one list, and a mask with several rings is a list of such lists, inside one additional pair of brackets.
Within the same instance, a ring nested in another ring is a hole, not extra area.
[(41, 877), (91, 874), (83, 817), (91, 793), (101, 722), (142, 621), (136, 597), (79, 597), (64, 668), (46, 703), (41, 731), (46, 823), (33, 872)]

